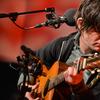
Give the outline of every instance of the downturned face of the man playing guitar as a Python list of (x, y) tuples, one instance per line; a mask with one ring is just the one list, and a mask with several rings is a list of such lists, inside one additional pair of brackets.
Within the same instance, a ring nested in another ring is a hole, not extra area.
[(100, 52), (100, 32), (90, 29), (82, 33), (82, 38), (87, 48)]

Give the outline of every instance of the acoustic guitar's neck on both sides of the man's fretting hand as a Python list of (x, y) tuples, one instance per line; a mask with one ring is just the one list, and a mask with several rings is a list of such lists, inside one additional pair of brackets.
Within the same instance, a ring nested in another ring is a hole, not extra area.
[[(74, 64), (74, 66), (77, 68), (77, 72), (80, 72), (81, 70), (85, 70), (85, 69), (93, 69), (98, 65), (100, 65), (100, 56), (91, 58), (91, 59), (89, 58), (88, 60), (82, 57), (79, 59), (76, 65)], [(50, 78), (49, 84), (48, 84), (48, 90), (51, 90), (52, 88), (54, 88), (55, 86), (63, 82), (64, 80), (65, 80), (64, 72), (61, 72), (57, 76)]]

